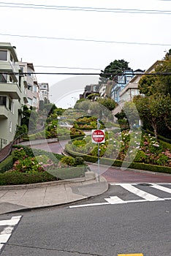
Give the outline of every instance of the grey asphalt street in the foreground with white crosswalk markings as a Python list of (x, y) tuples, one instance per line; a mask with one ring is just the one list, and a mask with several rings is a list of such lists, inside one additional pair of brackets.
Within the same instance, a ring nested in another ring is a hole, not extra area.
[[(20, 215), (1, 256), (171, 256), (171, 184), (131, 184), (137, 194), (124, 186), (112, 184), (103, 195), (63, 208), (1, 215), (0, 227)], [(109, 203), (113, 196), (121, 201)]]

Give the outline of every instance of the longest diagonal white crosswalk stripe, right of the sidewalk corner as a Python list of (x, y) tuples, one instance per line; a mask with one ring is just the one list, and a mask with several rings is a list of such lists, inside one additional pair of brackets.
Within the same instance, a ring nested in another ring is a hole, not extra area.
[(132, 192), (134, 195), (142, 197), (148, 201), (164, 200), (160, 197), (156, 197), (156, 195), (151, 195), (148, 192), (142, 191), (141, 189), (137, 189), (136, 187), (133, 187), (131, 184), (120, 184), (120, 186), (123, 187), (123, 189)]

